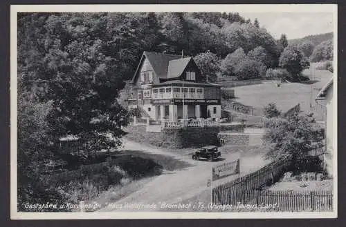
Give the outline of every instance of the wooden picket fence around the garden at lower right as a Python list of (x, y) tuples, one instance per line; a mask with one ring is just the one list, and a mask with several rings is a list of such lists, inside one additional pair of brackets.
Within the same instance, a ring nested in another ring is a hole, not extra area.
[(277, 204), (275, 210), (331, 210), (332, 193), (329, 191), (271, 191), (263, 186), (275, 183), (291, 166), (289, 157), (273, 161), (248, 175), (212, 189), (213, 204)]

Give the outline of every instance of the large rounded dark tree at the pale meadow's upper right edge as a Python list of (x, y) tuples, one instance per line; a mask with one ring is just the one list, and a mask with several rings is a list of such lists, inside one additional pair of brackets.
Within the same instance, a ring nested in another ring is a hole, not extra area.
[(280, 67), (286, 69), (293, 81), (302, 79), (301, 72), (309, 68), (309, 61), (296, 46), (287, 46), (280, 56)]

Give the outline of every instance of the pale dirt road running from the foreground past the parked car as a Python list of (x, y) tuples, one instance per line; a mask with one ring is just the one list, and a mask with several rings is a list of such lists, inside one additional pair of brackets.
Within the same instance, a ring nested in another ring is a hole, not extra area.
[[(178, 155), (160, 148), (153, 148), (128, 140), (125, 140), (123, 145), (125, 150), (141, 150), (142, 152), (167, 155), (182, 161), (188, 161), (191, 166), (183, 170), (166, 171), (162, 175), (155, 177), (152, 181), (149, 181), (149, 183), (145, 184), (140, 190), (116, 201), (116, 204), (109, 204), (99, 211), (167, 210), (164, 204), (170, 206), (170, 204), (179, 204), (181, 201), (188, 201), (190, 198), (197, 197), (201, 194), (207, 195), (207, 197), (210, 195), (211, 188), (207, 186), (207, 183), (208, 180), (211, 179), (212, 165), (215, 163), (195, 161), (191, 159), (188, 153), (185, 155)], [(225, 159), (224, 161), (233, 161), (240, 158), (242, 174), (251, 172), (266, 164), (266, 161), (264, 161), (260, 155), (256, 157), (242, 157), (240, 152), (235, 152), (223, 155), (222, 157)], [(254, 163), (257, 165), (254, 166)], [(229, 179), (222, 179), (219, 183), (215, 181), (213, 185), (222, 184), (227, 180)], [(198, 201), (196, 202), (198, 204)], [(148, 208), (143, 207), (149, 205), (152, 206)], [(127, 207), (125, 208), (125, 206)]]

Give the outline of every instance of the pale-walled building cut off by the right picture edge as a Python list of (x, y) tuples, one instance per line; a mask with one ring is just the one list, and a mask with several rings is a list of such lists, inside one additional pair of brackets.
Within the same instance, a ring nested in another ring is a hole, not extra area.
[(318, 92), (316, 102), (325, 107), (325, 165), (329, 175), (332, 174), (334, 146), (334, 99), (333, 77)]

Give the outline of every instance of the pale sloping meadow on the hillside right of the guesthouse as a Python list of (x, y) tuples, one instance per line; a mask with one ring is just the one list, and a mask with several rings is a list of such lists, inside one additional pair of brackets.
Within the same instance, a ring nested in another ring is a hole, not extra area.
[[(310, 75), (310, 69), (304, 70), (303, 74)], [(300, 103), (304, 112), (310, 112), (310, 100), (316, 119), (322, 120), (322, 110), (316, 104), (315, 98), (320, 88), (332, 77), (332, 73), (327, 70), (316, 70), (315, 64), (312, 65), (311, 79), (319, 80), (311, 86), (304, 83), (282, 83), (281, 87), (276, 86), (274, 81), (264, 81), (264, 83), (240, 86), (235, 89), (236, 101), (247, 106), (263, 108), (268, 103), (276, 103), (277, 108), (286, 111)]]

